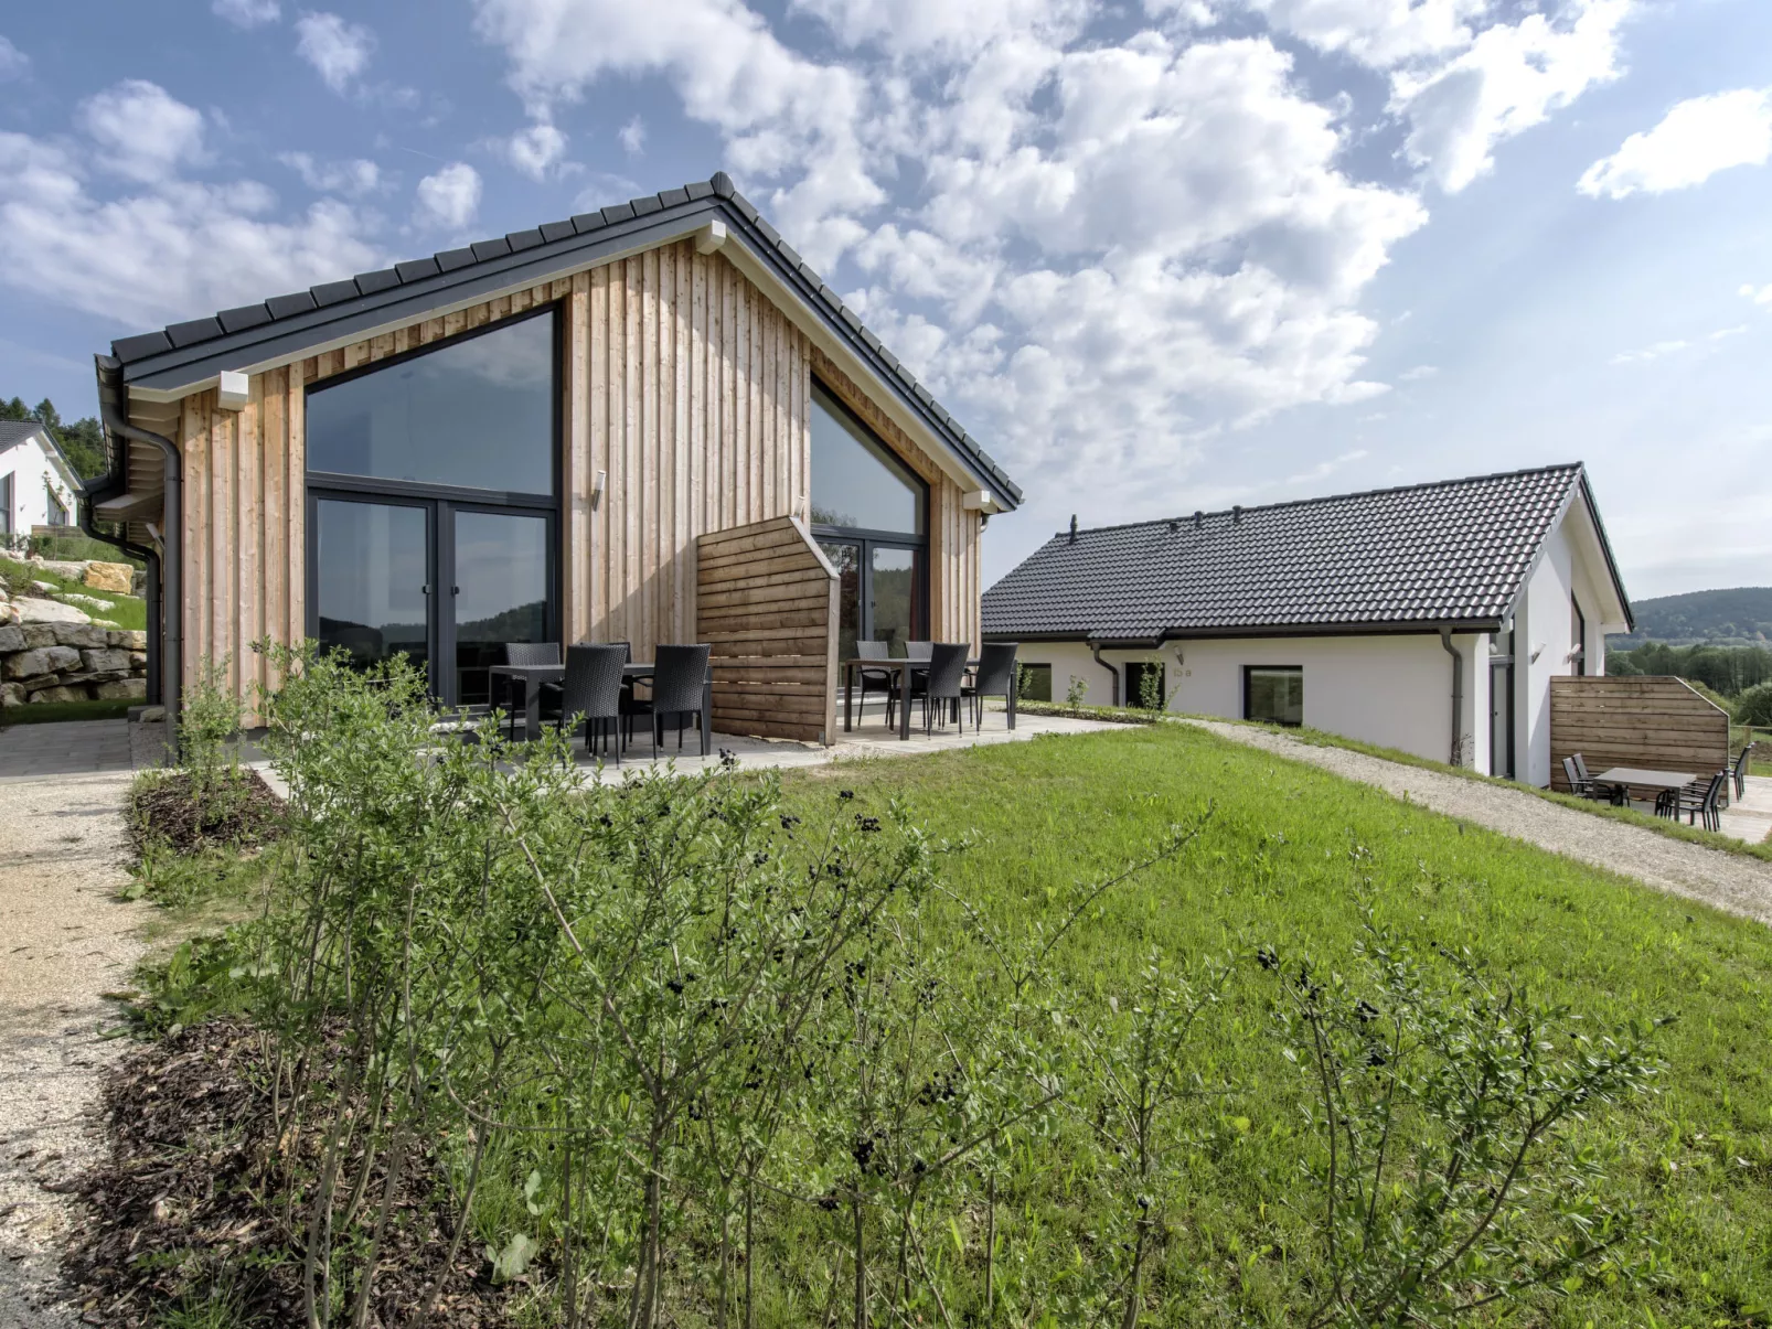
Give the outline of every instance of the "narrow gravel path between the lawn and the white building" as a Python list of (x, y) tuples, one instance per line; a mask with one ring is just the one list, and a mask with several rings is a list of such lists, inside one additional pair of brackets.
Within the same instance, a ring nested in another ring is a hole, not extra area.
[(1641, 826), (1593, 817), (1481, 780), (1462, 780), (1347, 748), (1315, 748), (1285, 734), (1247, 725), (1219, 725), (1210, 719), (1182, 723), (1198, 725), (1247, 748), (1262, 748), (1278, 757), (1320, 766), (1348, 780), (1377, 785), (1387, 794), (1407, 797), (1448, 817), (1460, 817), (1549, 849), (1552, 854), (1636, 877), (1671, 895), (1772, 923), (1772, 863), (1673, 840)]

